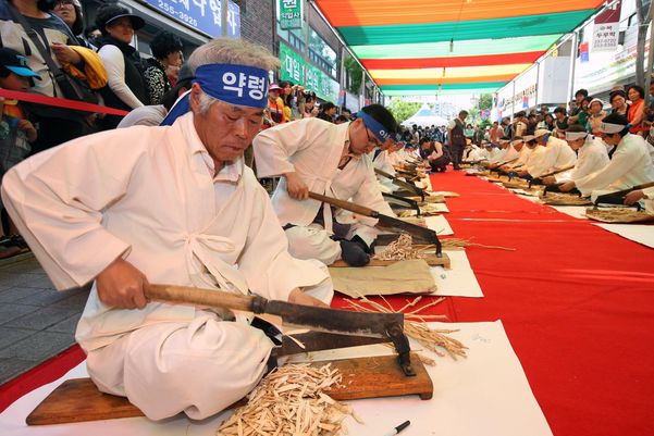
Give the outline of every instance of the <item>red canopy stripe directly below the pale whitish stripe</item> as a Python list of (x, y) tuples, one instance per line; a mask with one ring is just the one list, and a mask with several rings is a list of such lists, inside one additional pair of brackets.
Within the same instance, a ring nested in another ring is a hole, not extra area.
[(418, 59), (361, 59), (367, 70), (414, 70), (454, 66), (506, 65), (535, 62), (545, 51), (485, 54), (479, 57), (418, 58)]

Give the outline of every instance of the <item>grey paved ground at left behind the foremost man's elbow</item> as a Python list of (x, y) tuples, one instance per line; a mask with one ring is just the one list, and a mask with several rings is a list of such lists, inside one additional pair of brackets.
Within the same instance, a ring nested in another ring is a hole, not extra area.
[(30, 252), (0, 261), (0, 385), (75, 342), (87, 296), (54, 290)]

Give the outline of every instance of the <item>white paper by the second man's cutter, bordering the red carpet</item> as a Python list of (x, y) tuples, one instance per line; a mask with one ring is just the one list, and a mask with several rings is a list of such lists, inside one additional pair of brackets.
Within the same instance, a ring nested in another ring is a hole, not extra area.
[(443, 250), (449, 257), (451, 267), (432, 266), (431, 273), (436, 282), (434, 296), (483, 297), (479, 282), (474, 276), (466, 250)]

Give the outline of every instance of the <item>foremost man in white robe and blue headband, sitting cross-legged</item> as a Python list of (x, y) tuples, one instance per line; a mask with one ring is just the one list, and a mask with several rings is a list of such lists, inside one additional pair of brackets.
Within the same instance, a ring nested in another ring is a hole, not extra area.
[[(189, 59), (196, 79), (172, 126), (82, 137), (3, 179), (4, 204), (54, 286), (92, 282), (75, 337), (94, 383), (149, 419), (220, 412), (257, 385), (273, 347), (245, 314), (148, 301), (149, 283), (314, 306), (333, 295), (324, 265), (288, 253), (242, 160), (277, 64), (242, 40), (208, 42)], [(229, 89), (239, 74), (259, 99)]]

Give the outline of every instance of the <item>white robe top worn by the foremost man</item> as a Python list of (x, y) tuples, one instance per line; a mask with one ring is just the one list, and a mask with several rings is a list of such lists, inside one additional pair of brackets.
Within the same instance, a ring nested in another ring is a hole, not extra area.
[[(72, 140), (14, 166), (2, 199), (58, 289), (92, 281), (122, 257), (153, 284), (287, 300), (329, 276), (287, 252), (266, 190), (238, 159), (213, 176), (193, 114)], [(189, 322), (196, 309), (103, 304), (94, 286), (76, 338), (86, 351), (126, 332)]]

